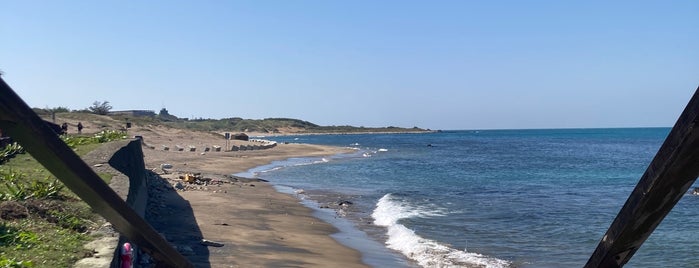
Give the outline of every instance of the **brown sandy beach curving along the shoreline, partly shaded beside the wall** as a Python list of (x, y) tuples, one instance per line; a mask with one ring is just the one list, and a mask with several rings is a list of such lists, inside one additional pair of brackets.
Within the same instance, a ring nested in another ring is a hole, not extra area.
[[(279, 144), (266, 150), (203, 152), (223, 147), (225, 140), (214, 133), (161, 126), (135, 127), (129, 135), (143, 137), (146, 168), (152, 170), (154, 184), (161, 185), (151, 188), (148, 220), (196, 267), (367, 267), (358, 251), (329, 236), (337, 232), (332, 225), (314, 218), (295, 197), (265, 182), (227, 177), (276, 160), (350, 149)], [(173, 150), (177, 145), (186, 149)], [(189, 146), (196, 151), (188, 151)], [(161, 164), (172, 168), (164, 173)], [(174, 190), (171, 185), (186, 173), (224, 183), (185, 183), (185, 190)]]

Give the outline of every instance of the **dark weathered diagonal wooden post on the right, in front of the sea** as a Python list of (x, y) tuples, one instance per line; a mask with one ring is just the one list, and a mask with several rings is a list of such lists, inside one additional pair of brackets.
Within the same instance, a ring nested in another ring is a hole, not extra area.
[(699, 176), (699, 88), (585, 267), (622, 267)]

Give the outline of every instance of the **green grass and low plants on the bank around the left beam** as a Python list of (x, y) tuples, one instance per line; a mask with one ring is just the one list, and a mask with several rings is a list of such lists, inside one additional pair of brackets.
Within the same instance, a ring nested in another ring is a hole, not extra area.
[[(78, 154), (125, 138), (122, 131), (64, 136)], [(88, 231), (103, 221), (18, 144), (3, 148), (0, 159), (0, 268), (70, 267), (91, 254), (82, 246)], [(110, 174), (99, 174), (105, 181)]]

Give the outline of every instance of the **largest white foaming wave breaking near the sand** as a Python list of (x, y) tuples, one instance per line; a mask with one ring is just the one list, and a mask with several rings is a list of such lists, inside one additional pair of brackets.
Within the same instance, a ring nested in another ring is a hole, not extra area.
[(415, 234), (400, 219), (414, 217), (444, 216), (444, 212), (427, 207), (414, 207), (394, 200), (391, 194), (384, 195), (371, 214), (374, 224), (386, 227), (388, 248), (403, 253), (422, 267), (509, 267), (510, 263), (482, 254), (450, 248), (437, 241), (425, 239)]

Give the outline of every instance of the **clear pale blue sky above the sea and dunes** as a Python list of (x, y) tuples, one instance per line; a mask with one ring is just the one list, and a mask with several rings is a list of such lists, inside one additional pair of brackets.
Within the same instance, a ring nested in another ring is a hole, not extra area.
[(32, 107), (432, 129), (672, 126), (699, 1), (7, 1)]

